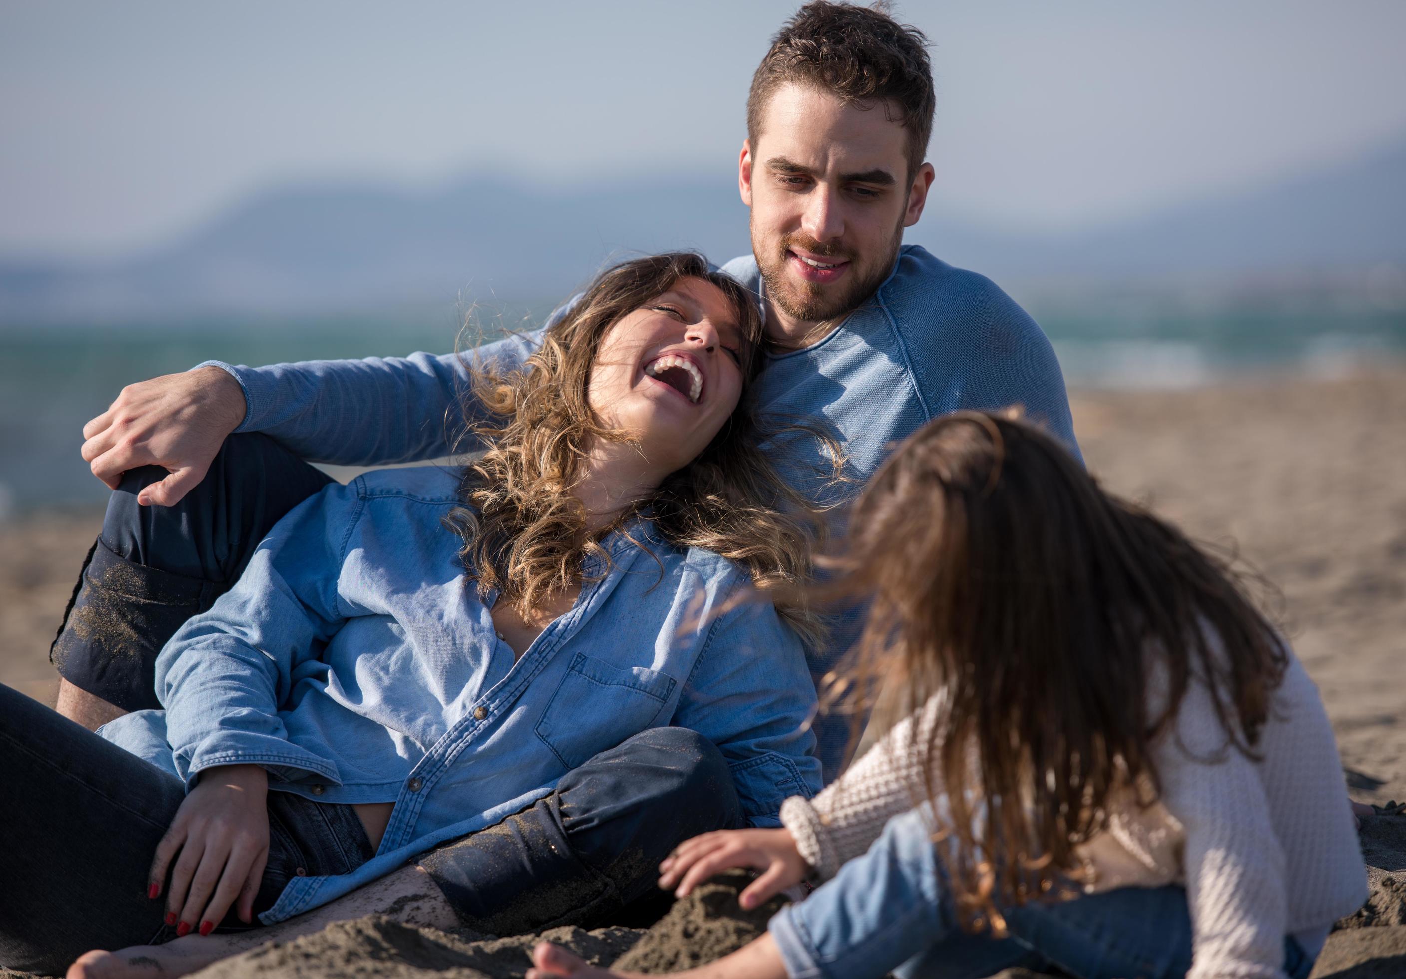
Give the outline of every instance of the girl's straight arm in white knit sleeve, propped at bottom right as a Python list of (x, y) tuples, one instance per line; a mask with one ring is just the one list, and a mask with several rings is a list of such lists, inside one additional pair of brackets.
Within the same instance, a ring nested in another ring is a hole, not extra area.
[(1256, 762), (1226, 744), (1211, 692), (1192, 679), (1157, 757), (1161, 800), (1185, 830), (1191, 979), (1282, 979), (1284, 852)]

